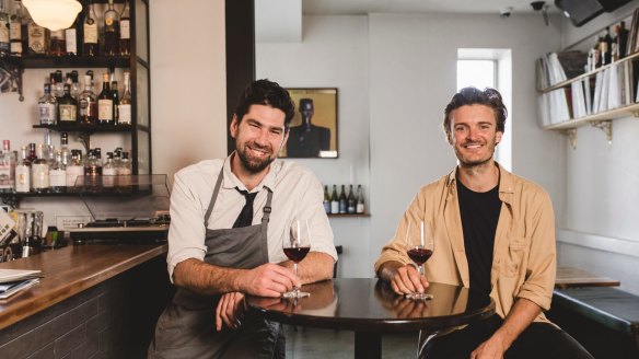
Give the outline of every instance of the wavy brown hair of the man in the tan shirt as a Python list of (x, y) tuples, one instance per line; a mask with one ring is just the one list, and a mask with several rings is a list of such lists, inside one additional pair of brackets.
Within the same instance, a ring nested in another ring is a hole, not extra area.
[(453, 95), (451, 102), (444, 109), (444, 132), (446, 139), (452, 142), (453, 134), (451, 132), (451, 113), (465, 105), (485, 105), (495, 112), (495, 119), (497, 123), (497, 130), (503, 134), (506, 127), (506, 117), (508, 117), (508, 109), (501, 100), (499, 91), (486, 88), (484, 91), (476, 88), (464, 88)]

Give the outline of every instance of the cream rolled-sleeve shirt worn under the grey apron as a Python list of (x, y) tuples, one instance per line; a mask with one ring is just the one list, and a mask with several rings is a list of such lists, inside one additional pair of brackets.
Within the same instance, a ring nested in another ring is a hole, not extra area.
[[(234, 152), (233, 154), (234, 155)], [(169, 275), (173, 280), (175, 266), (187, 259), (204, 259), (205, 215), (211, 201), (220, 171), (224, 178), (208, 228), (229, 229), (246, 202), (235, 187), (246, 190), (242, 182), (231, 172), (231, 155), (226, 159), (207, 160), (189, 165), (175, 174), (171, 193), (171, 227), (169, 229)], [(253, 202), (253, 224), (259, 224), (264, 215), (267, 192), (272, 190), (267, 243), (270, 263), (288, 260), (282, 251), (282, 239), (288, 235), (294, 218), (307, 219), (311, 229), (311, 251), (323, 252), (337, 260), (333, 243), (333, 231), (324, 211), (324, 189), (317, 177), (294, 162), (276, 160), (268, 174), (252, 193), (257, 192)]]

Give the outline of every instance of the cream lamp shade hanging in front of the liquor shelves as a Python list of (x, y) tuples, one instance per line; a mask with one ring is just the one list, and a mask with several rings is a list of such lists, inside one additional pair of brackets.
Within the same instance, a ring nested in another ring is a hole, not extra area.
[(68, 28), (82, 5), (75, 0), (23, 0), (36, 24), (50, 31)]

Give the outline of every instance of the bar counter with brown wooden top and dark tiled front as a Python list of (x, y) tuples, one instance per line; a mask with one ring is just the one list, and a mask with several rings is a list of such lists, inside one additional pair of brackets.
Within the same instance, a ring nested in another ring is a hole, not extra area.
[(89, 244), (0, 263), (43, 278), (0, 300), (7, 358), (144, 358), (172, 288), (166, 245)]

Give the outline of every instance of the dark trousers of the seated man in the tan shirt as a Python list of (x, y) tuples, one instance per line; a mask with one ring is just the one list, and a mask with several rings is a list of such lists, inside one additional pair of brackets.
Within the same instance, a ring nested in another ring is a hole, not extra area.
[[(470, 324), (461, 331), (432, 338), (421, 358), (469, 358), (503, 323), (498, 315)], [(506, 351), (506, 359), (593, 359), (568, 333), (548, 323), (532, 323)]]

